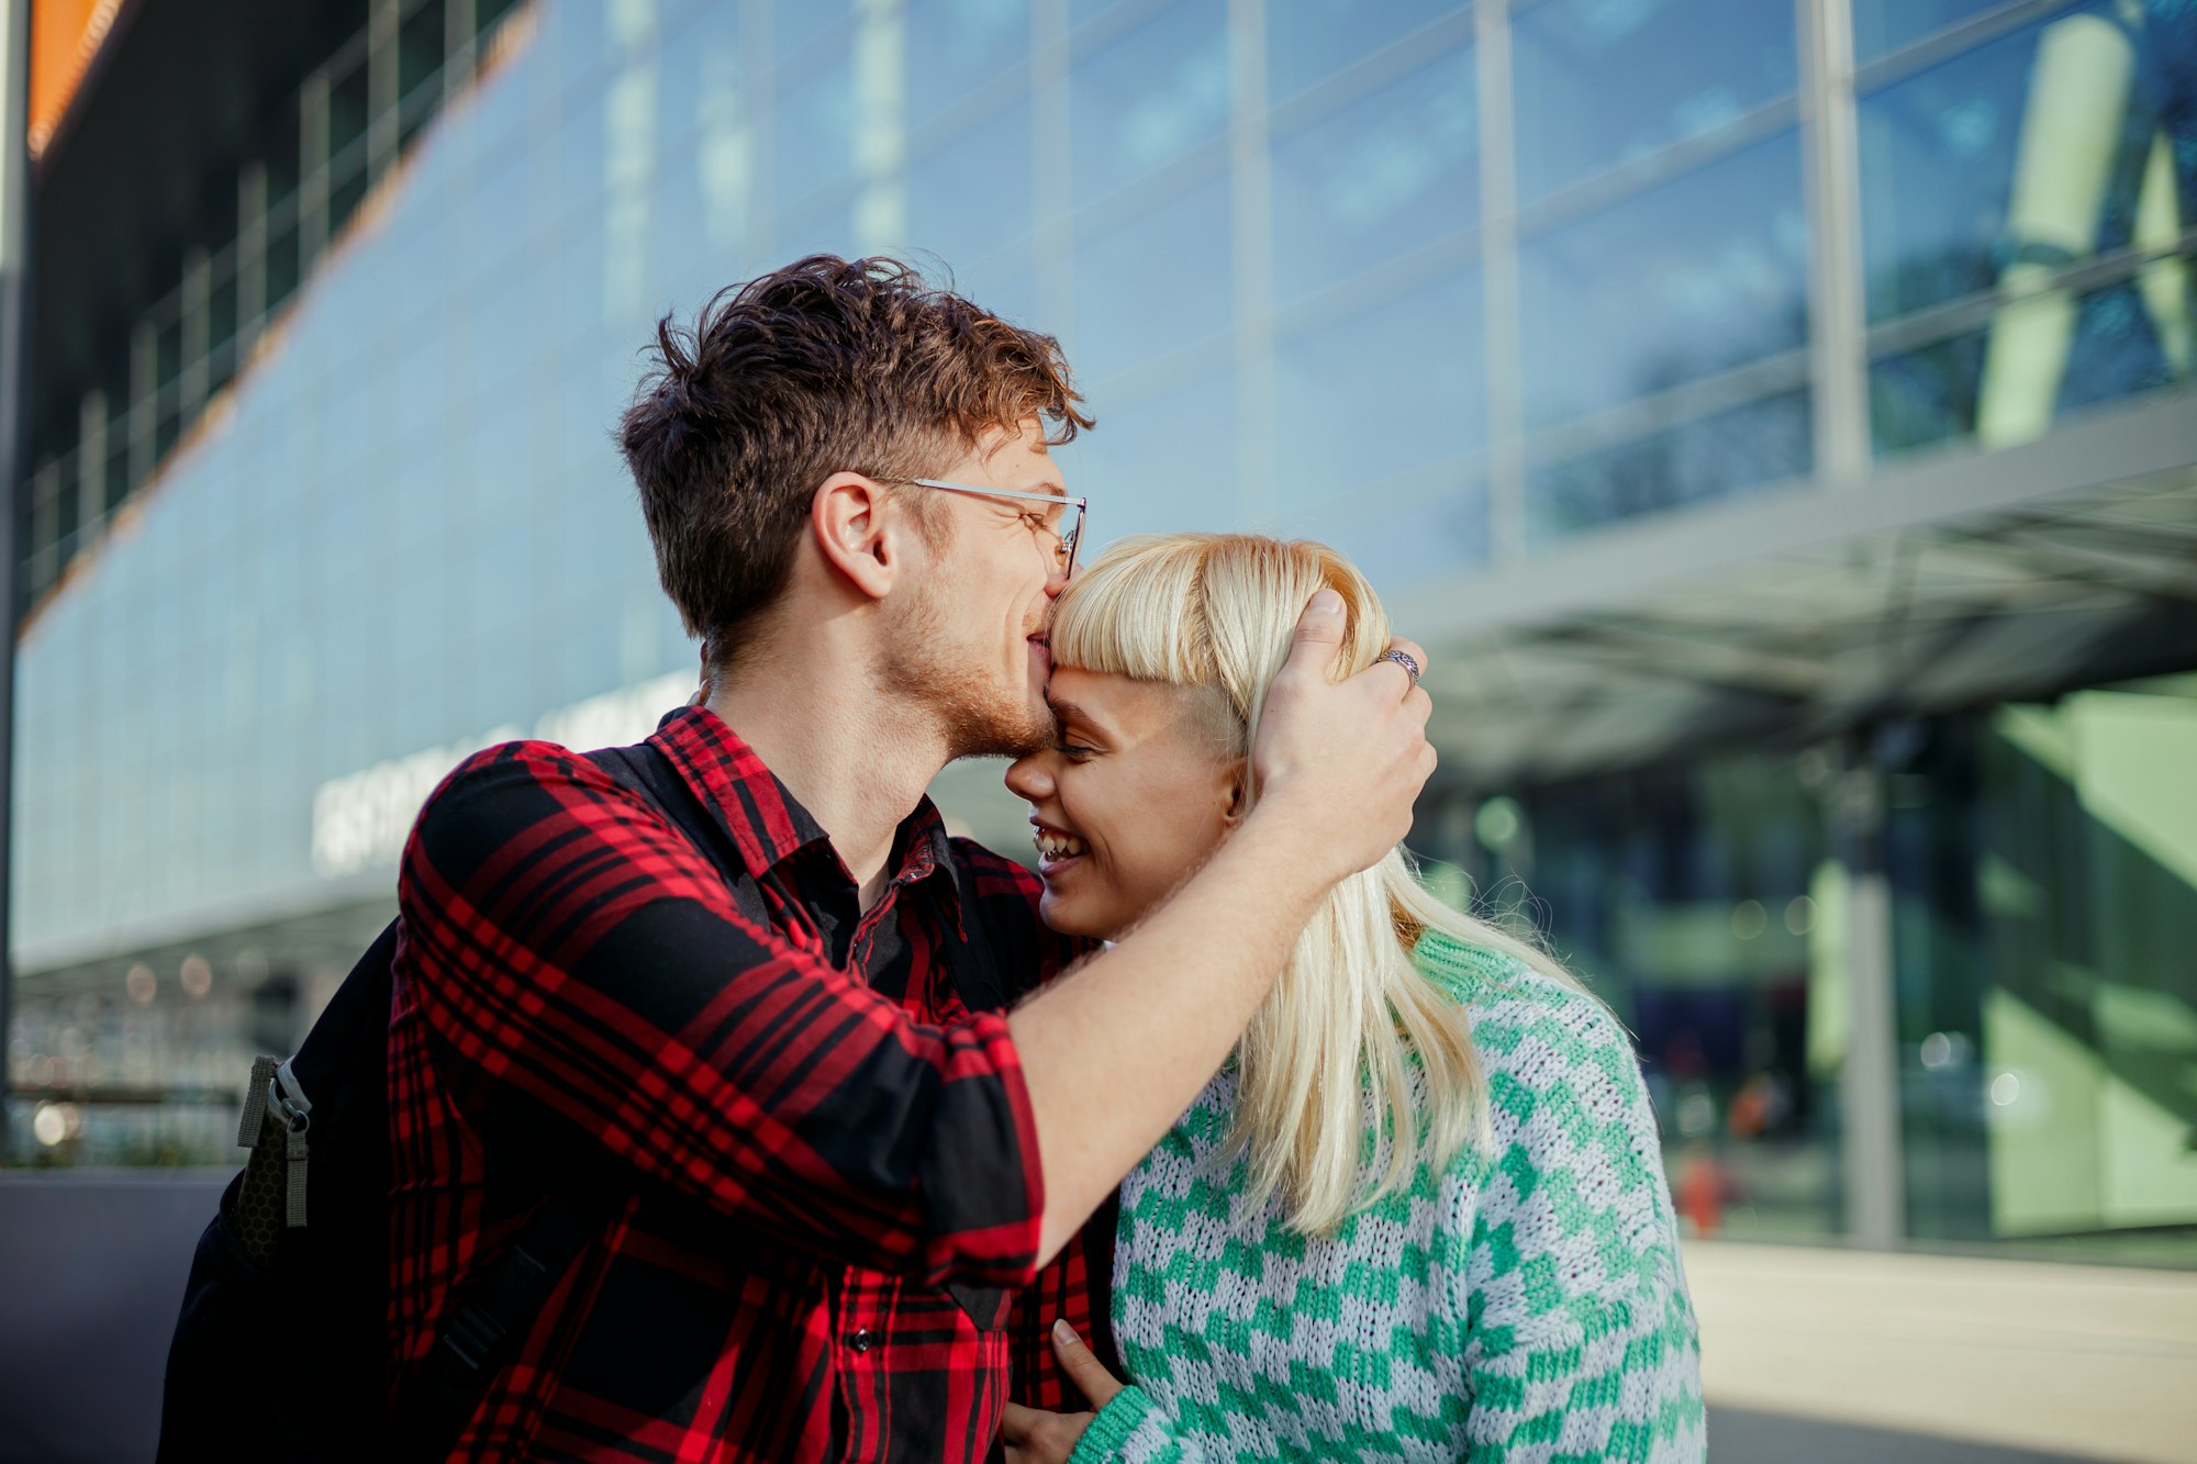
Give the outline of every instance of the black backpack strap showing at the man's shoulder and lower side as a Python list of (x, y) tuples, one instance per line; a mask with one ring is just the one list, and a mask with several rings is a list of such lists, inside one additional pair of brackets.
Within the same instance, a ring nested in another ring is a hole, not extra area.
[[(661, 752), (639, 743), (589, 752), (587, 758), (655, 805), (716, 866), (743, 914), (769, 919), (732, 835), (716, 827)], [(481, 1389), (510, 1361), (518, 1337), (540, 1317), (558, 1279), (602, 1233), (613, 1209), (615, 1200), (606, 1202), (602, 1194), (556, 1191), (492, 1266), (468, 1277), (464, 1297), (442, 1319), (433, 1352), (391, 1418), (409, 1457), (448, 1457), (481, 1405)]]

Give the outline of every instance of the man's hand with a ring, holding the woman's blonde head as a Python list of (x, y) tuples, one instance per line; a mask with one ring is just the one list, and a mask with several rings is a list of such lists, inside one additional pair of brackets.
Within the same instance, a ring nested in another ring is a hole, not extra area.
[[(1435, 703), (1399, 664), (1380, 659), (1329, 681), (1342, 644), (1342, 596), (1312, 596), (1290, 659), (1274, 675), (1252, 743), (1259, 807), (1252, 818), (1296, 831), (1305, 859), (1331, 879), (1380, 864), (1406, 833), (1410, 807), (1435, 772), (1426, 719)], [(1391, 642), (1426, 666), (1426, 651)]]

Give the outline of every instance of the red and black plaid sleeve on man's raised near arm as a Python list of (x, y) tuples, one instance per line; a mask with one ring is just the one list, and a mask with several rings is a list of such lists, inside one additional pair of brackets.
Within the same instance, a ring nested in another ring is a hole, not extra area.
[(398, 895), (400, 972), (490, 1152), (591, 1156), (932, 1286), (1033, 1279), (1044, 1180), (1006, 1018), (918, 1024), (749, 923), (587, 758), (468, 758), (422, 809)]

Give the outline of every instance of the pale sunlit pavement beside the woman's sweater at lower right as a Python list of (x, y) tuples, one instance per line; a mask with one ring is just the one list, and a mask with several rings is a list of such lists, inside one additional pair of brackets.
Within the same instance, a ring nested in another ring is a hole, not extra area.
[(2197, 1275), (1694, 1242), (1718, 1464), (2190, 1464)]

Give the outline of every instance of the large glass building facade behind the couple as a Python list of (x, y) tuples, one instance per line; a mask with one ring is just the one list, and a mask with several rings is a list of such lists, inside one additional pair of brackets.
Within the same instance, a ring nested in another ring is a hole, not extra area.
[(1413, 842), (1624, 1013), (1694, 1227), (2197, 1264), (2197, 9), (327, 11), (33, 411), (18, 1163), (226, 1161), (435, 778), (683, 697), (639, 347), (892, 251), (1063, 339), (1096, 541), (1389, 594)]

